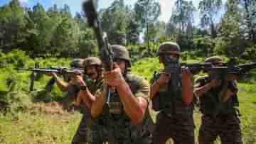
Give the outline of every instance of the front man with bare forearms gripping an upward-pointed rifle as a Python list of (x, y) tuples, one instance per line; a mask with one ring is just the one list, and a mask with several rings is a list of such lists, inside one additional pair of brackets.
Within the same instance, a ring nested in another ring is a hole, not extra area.
[(142, 77), (129, 72), (131, 67), (129, 52), (122, 45), (112, 45), (114, 70), (104, 72), (104, 83), (112, 92), (108, 104), (103, 109), (106, 94), (103, 89), (96, 92), (92, 102), (91, 114), (95, 121), (102, 120), (102, 129), (107, 131), (111, 144), (148, 144), (151, 134), (146, 126), (151, 122), (149, 116), (149, 84)]

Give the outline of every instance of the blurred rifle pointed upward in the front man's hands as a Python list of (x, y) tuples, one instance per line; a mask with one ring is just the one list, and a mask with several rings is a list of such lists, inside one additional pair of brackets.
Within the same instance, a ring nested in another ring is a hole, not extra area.
[[(95, 32), (95, 36), (97, 38), (97, 44), (100, 52), (100, 59), (104, 65), (104, 69), (106, 71), (110, 71), (113, 69), (113, 52), (110, 47), (110, 44), (107, 40), (107, 34), (103, 33), (102, 26), (97, 18), (97, 12), (95, 9), (95, 5), (93, 4), (92, 0), (86, 0), (82, 4), (82, 9), (85, 11), (85, 16), (87, 17), (87, 23)], [(106, 104), (108, 105), (110, 102), (110, 87), (104, 88), (107, 92), (107, 101)]]

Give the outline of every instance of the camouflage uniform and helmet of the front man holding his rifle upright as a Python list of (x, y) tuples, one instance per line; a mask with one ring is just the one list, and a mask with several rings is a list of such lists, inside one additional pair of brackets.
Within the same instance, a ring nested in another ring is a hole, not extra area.
[[(127, 60), (127, 66), (129, 67), (129, 55), (126, 48), (120, 45), (112, 45), (112, 49), (114, 52), (114, 58)], [(141, 96), (144, 97), (146, 101), (149, 101), (149, 84), (145, 79), (142, 79), (142, 77), (138, 77), (134, 74), (127, 73), (125, 74), (125, 80), (127, 84), (129, 84), (129, 88), (131, 89), (134, 96)], [(96, 96), (102, 96), (102, 89), (97, 92)], [(140, 123), (139, 125), (134, 125), (132, 124), (129, 116), (127, 116), (127, 114), (124, 112), (124, 106), (122, 104), (122, 101), (119, 99), (117, 92), (114, 92), (112, 94), (109, 106), (109, 111), (103, 111), (102, 114), (95, 119), (97, 123), (102, 123), (100, 129), (103, 132), (107, 131), (107, 133), (103, 133), (103, 135), (107, 135), (108, 143), (151, 143), (151, 133), (149, 132), (148, 126), (150, 126), (153, 121), (151, 121), (148, 109), (146, 109), (146, 113), (142, 123)]]

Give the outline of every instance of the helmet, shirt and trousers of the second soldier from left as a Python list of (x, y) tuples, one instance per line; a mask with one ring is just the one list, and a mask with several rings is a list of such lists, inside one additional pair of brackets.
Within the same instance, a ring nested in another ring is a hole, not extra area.
[[(92, 60), (92, 61), (90, 61)], [(96, 63), (95, 60), (97, 61)], [(90, 62), (88, 62), (90, 61)], [(87, 57), (85, 59), (84, 62), (84, 67), (86, 67), (86, 65), (101, 65), (101, 62), (99, 63), (98, 61), (100, 61), (97, 57)], [(92, 93), (92, 95), (95, 94), (95, 92), (97, 91), (97, 89), (100, 89), (102, 87), (102, 79), (97, 79), (97, 80), (92, 80), (92, 79), (85, 79), (86, 84), (87, 84), (87, 88), (89, 89), (89, 91)], [(92, 126), (88, 126), (88, 122), (91, 119), (91, 114), (90, 114), (90, 109), (87, 108), (87, 106), (83, 106), (85, 107), (83, 115), (82, 115), (82, 119), (80, 121), (80, 124), (78, 126), (78, 130), (75, 133), (75, 136), (73, 137), (72, 140), (72, 144), (85, 144), (85, 143), (96, 143), (92, 141), (92, 133), (94, 134), (93, 136), (97, 137), (97, 130), (96, 128), (96, 124)], [(98, 143), (97, 143), (98, 144)], [(100, 144), (100, 143), (99, 143)]]

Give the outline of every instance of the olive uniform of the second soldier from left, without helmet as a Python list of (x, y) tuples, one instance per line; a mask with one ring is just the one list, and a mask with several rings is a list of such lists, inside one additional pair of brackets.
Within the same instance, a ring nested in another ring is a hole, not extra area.
[[(95, 94), (97, 89), (100, 89), (102, 87), (102, 79), (92, 81), (87, 80), (86, 84), (89, 89), (89, 91), (92, 94)], [(85, 144), (85, 143), (92, 143), (92, 138), (90, 138), (92, 135), (90, 133), (97, 133), (97, 131), (92, 131), (87, 126), (88, 121), (91, 118), (90, 109), (85, 108), (85, 112), (82, 115), (82, 119), (80, 121), (80, 124), (78, 126), (78, 130), (75, 133), (75, 136), (73, 137), (72, 144)]]

